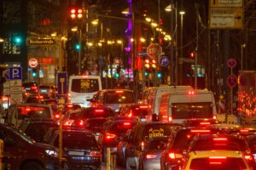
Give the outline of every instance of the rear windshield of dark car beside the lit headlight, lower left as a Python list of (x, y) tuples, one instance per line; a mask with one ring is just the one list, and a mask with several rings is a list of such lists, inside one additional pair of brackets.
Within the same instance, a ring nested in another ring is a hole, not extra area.
[[(59, 145), (59, 138), (56, 138), (55, 145)], [(80, 132), (64, 132), (63, 133), (63, 148), (67, 149), (91, 149), (98, 147), (96, 139), (92, 135), (87, 135)]]

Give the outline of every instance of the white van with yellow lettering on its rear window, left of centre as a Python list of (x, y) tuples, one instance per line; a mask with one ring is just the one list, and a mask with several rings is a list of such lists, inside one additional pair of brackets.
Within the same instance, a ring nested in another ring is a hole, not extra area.
[(68, 83), (68, 102), (90, 107), (92, 96), (102, 90), (100, 76), (71, 76)]

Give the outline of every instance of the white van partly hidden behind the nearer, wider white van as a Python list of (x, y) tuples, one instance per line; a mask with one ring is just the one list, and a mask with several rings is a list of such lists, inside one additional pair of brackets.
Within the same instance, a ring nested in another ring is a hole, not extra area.
[(160, 86), (146, 88), (143, 91), (141, 99), (138, 101), (139, 104), (148, 105), (148, 115), (156, 114), (159, 115), (160, 98), (162, 94), (192, 90), (191, 86)]

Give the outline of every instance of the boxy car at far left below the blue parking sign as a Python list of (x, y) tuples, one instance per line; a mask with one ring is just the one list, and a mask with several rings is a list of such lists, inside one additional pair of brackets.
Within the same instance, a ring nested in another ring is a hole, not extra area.
[(43, 104), (16, 104), (10, 105), (7, 116), (7, 123), (12, 123), (15, 127), (20, 126), (20, 122), (25, 119), (54, 119), (54, 114), (49, 105)]

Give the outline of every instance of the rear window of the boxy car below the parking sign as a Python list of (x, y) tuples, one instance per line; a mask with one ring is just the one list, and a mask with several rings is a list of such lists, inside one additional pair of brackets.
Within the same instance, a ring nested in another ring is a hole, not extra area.
[(28, 105), (18, 106), (18, 118), (23, 119), (26, 117), (49, 119), (51, 118), (49, 107)]

